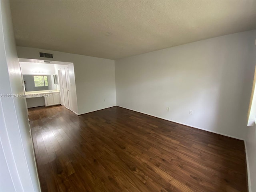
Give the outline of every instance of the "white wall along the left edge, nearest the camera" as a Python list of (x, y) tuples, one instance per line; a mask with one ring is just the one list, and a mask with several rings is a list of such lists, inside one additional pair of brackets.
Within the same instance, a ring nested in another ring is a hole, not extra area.
[[(0, 94), (23, 94), (9, 1), (0, 1), (0, 15)], [(13, 181), (11, 184), (10, 177), (7, 178), (8, 175), (6, 175), (6, 181), (1, 179), (1, 191), (4, 186), (4, 188), (10, 188), (10, 191), (14, 191), (15, 187), (17, 192), (38, 192), (40, 187), (25, 98), (1, 96), (0, 100), (2, 104), (0, 142), (3, 150), (0, 162), (1, 172), (5, 170), (8, 174), (8, 170)], [(2, 161), (2, 154), (6, 161)]]

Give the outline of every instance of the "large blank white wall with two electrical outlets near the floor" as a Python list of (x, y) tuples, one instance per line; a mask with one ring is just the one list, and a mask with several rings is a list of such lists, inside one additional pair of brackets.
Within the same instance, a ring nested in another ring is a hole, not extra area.
[(117, 106), (243, 139), (255, 38), (253, 30), (116, 60)]

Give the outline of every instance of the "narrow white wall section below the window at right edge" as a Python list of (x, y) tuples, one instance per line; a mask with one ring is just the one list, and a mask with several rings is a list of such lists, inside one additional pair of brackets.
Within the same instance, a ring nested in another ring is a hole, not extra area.
[(249, 126), (246, 134), (246, 150), (247, 150), (247, 166), (249, 168), (248, 175), (250, 176), (249, 188), (250, 192), (256, 191), (256, 125)]

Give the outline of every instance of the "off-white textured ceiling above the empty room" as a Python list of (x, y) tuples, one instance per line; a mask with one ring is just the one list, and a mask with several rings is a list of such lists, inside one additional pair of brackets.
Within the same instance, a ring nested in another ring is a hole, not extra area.
[(256, 29), (256, 1), (10, 1), (17, 46), (118, 59)]

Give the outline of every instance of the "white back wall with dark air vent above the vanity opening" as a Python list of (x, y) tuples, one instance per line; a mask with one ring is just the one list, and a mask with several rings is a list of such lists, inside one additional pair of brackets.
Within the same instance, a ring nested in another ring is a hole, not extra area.
[(17, 52), (18, 58), (42, 59), (39, 52), (46, 52), (53, 54), (48, 60), (74, 63), (75, 79), (70, 81), (76, 84), (72, 87), (76, 88), (78, 114), (116, 106), (114, 60), (27, 47), (17, 47)]

